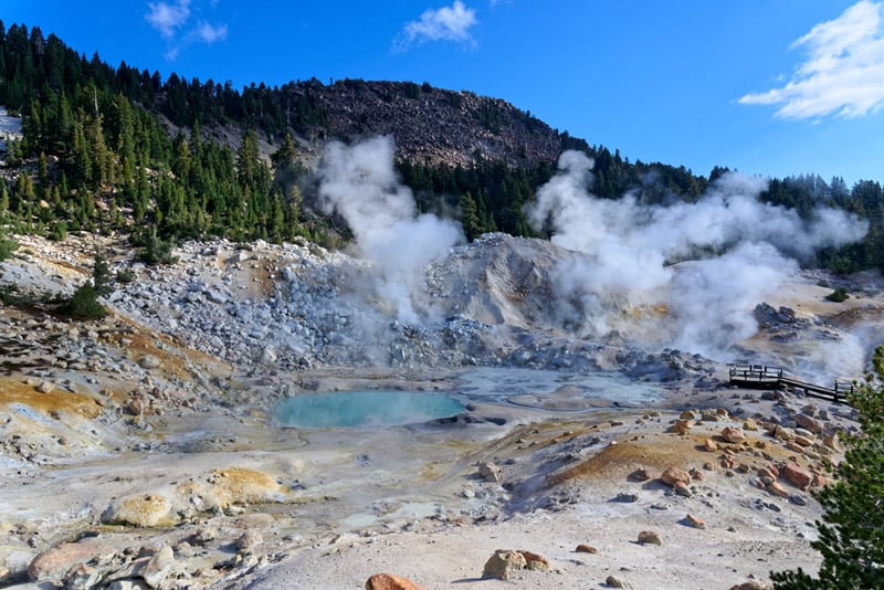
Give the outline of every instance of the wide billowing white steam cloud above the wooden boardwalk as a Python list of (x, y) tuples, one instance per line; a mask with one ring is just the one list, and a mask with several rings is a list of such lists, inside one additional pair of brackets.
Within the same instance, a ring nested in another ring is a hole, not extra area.
[[(579, 151), (559, 159), (560, 172), (537, 191), (528, 210), (536, 230), (579, 251), (556, 271), (565, 317), (586, 335), (639, 333), (692, 352), (727, 357), (753, 336), (755, 306), (813, 251), (861, 239), (866, 225), (834, 209), (812, 220), (759, 202), (767, 181), (727, 173), (696, 203), (643, 206), (589, 192), (593, 162)], [(680, 264), (675, 264), (680, 263)], [(665, 308), (636, 322), (630, 309)]]

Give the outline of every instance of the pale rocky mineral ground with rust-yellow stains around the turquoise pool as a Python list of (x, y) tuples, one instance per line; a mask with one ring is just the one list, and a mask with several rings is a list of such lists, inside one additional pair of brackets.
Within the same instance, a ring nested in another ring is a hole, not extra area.
[[(70, 293), (87, 277), (92, 242), (21, 242), (0, 284)], [(125, 244), (104, 245), (116, 268)], [(383, 302), (347, 289), (365, 270), (344, 254), (228, 242), (178, 254), (137, 266), (101, 322), (0, 306), (3, 583), (358, 589), (386, 571), (427, 589), (609, 577), (713, 589), (819, 562), (819, 504), (783, 477), (765, 488), (760, 470), (825, 473), (821, 461), (838, 459), (828, 436), (855, 430), (852, 410), (730, 387), (725, 362), (655, 341), (666, 309), (623, 309), (603, 338), (568, 336), (544, 316), (543, 272), (564, 255), (548, 243), (461, 249), (428, 274), (441, 310), (421, 327), (379, 322)], [(796, 273), (756, 302), (772, 310), (759, 308), (761, 329), (733, 360), (823, 384), (859, 377), (884, 299), (865, 277), (864, 291), (827, 302), (823, 277)], [(283, 398), (348, 389), (451, 392), (469, 409), (383, 428), (273, 420)], [(769, 434), (776, 423), (799, 438)], [(745, 441), (724, 441), (726, 426)], [(485, 462), (499, 482), (481, 475)], [(670, 466), (693, 474), (690, 495), (660, 480)], [(640, 468), (651, 478), (633, 477)], [(644, 530), (662, 544), (640, 545)], [(551, 569), (483, 580), (497, 549), (540, 554)]]

